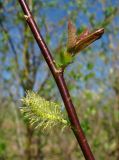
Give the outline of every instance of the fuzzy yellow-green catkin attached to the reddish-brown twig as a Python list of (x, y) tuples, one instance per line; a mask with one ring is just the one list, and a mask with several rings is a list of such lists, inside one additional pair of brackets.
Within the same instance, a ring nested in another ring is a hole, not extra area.
[(26, 97), (21, 101), (24, 104), (21, 112), (35, 128), (45, 130), (54, 126), (65, 128), (70, 125), (59, 104), (47, 101), (33, 91), (27, 91)]

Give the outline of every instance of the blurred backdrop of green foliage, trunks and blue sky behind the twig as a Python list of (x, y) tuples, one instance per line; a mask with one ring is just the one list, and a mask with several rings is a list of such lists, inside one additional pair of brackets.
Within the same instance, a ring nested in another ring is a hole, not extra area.
[[(119, 1), (27, 2), (55, 59), (66, 47), (68, 19), (78, 33), (104, 27), (65, 79), (95, 159), (119, 160)], [(24, 122), (19, 107), (26, 90), (63, 105), (18, 1), (0, 0), (0, 160), (84, 160), (70, 129), (43, 133)]]

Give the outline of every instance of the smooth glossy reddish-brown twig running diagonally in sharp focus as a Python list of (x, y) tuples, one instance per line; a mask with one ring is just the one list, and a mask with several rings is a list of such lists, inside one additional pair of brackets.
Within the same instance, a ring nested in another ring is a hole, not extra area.
[(49, 66), (49, 69), (51, 70), (51, 72), (54, 76), (54, 79), (57, 83), (61, 97), (63, 99), (63, 102), (65, 104), (65, 107), (66, 107), (66, 110), (68, 113), (68, 117), (69, 117), (71, 125), (72, 125), (72, 130), (73, 130), (73, 132), (76, 136), (76, 139), (81, 147), (81, 150), (84, 154), (84, 157), (86, 160), (94, 160), (94, 156), (91, 152), (91, 149), (90, 149), (88, 142), (85, 138), (85, 135), (83, 133), (83, 130), (80, 126), (75, 108), (73, 106), (69, 91), (67, 89), (67, 86), (66, 86), (66, 83), (65, 83), (65, 80), (63, 77), (63, 71), (60, 69), (57, 69), (55, 62), (51, 56), (51, 53), (50, 53), (49, 49), (47, 48), (47, 45), (45, 44), (45, 42), (40, 34), (40, 31), (39, 31), (39, 29), (33, 19), (33, 16), (30, 12), (30, 9), (29, 9), (26, 1), (19, 0), (19, 3), (24, 11), (26, 21), (27, 21), (29, 27), (31, 28), (31, 31), (37, 41), (37, 44), (40, 47), (41, 52), (42, 52), (48, 66)]

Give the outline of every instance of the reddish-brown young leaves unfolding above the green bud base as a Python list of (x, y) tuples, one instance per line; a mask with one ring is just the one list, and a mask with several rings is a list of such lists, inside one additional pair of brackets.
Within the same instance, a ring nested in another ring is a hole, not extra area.
[(92, 33), (90, 33), (88, 29), (85, 29), (79, 36), (77, 36), (74, 24), (71, 21), (69, 21), (67, 43), (68, 53), (70, 53), (71, 55), (79, 53), (81, 50), (89, 46), (91, 43), (98, 40), (103, 33), (103, 28), (97, 29)]

